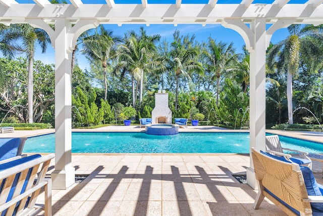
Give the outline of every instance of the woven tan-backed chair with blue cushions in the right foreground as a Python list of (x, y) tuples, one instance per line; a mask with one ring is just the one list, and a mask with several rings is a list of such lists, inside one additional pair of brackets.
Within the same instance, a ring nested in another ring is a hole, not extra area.
[(254, 148), (251, 154), (258, 183), (254, 209), (266, 197), (288, 215), (322, 215), (323, 186), (316, 183), (309, 167)]

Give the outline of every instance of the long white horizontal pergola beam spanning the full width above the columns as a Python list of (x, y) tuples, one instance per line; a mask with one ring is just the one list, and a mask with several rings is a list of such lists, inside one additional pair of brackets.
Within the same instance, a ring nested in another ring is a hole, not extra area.
[(177, 5), (150, 4), (149, 9), (140, 11), (138, 7), (142, 8), (141, 4), (116, 4), (113, 10), (106, 4), (81, 4), (78, 8), (67, 4), (61, 5), (60, 10), (57, 10), (57, 5), (51, 4), (45, 5), (45, 8), (37, 7), (34, 4), (14, 4), (9, 8), (0, 5), (0, 22), (10, 23), (12, 20), (14, 23), (17, 19), (25, 18), (56, 20), (65, 17), (71, 22), (95, 18), (106, 24), (120, 21), (123, 21), (122, 24), (220, 24), (225, 18), (239, 18), (250, 23), (254, 18), (264, 17), (267, 23), (275, 23), (278, 19), (296, 19), (295, 24), (312, 24), (313, 21), (323, 19), (323, 7), (309, 8), (306, 4), (286, 4), (282, 8), (277, 5), (251, 4), (245, 8), (245, 5), (240, 4), (217, 4), (212, 10), (205, 10), (204, 4), (185, 4), (180, 10), (175, 10)]

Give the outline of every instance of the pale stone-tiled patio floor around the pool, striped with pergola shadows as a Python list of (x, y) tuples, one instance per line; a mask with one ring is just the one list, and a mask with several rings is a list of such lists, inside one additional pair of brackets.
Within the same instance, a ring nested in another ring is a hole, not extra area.
[[(15, 131), (0, 137), (36, 133)], [(322, 133), (303, 136), (322, 140)], [(48, 176), (54, 165), (52, 160)], [(72, 166), (77, 176), (88, 177), (66, 190), (52, 190), (53, 215), (286, 215), (267, 199), (253, 209), (257, 191), (232, 176), (245, 174), (249, 154), (73, 153)], [(313, 170), (321, 172), (322, 164), (313, 161)], [(321, 174), (314, 175), (323, 184)]]

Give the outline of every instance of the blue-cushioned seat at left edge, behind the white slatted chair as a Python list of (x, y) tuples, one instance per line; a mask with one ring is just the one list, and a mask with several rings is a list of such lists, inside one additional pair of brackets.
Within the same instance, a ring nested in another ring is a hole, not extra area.
[(22, 154), (27, 138), (0, 138), (0, 161)]

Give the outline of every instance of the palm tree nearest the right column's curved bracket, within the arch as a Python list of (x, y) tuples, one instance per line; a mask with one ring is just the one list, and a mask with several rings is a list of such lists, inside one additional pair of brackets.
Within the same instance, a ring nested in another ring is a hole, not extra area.
[(213, 79), (217, 79), (217, 106), (219, 104), (220, 77), (221, 74), (229, 69), (231, 63), (237, 60), (234, 54), (233, 42), (228, 46), (227, 43), (220, 41), (218, 44), (212, 38), (208, 38), (208, 46), (203, 51), (206, 68), (212, 71)]

